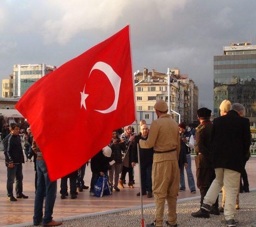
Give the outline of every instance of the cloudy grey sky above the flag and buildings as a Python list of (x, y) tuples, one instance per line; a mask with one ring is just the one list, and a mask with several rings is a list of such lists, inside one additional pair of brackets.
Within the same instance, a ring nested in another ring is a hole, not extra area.
[(213, 106), (213, 55), (256, 44), (256, 1), (1, 0), (0, 79), (14, 64), (60, 66), (131, 25), (134, 71), (178, 67)]

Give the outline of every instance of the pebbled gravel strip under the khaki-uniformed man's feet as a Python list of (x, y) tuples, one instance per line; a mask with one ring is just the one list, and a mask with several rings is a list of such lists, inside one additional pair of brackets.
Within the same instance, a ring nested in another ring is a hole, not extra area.
[[(222, 194), (220, 194), (220, 199)], [(221, 223), (223, 215), (211, 215), (209, 219), (194, 218), (191, 213), (199, 209), (199, 199), (191, 201), (178, 202), (177, 215), (178, 224), (180, 227), (220, 227), (225, 226)], [(148, 207), (144, 209), (145, 223), (151, 223), (154, 219), (155, 207)], [(167, 206), (164, 213), (164, 222), (166, 220)], [(123, 211), (118, 213), (111, 213), (105, 215), (98, 215), (93, 217), (84, 217), (64, 221), (62, 227), (140, 227), (140, 209), (133, 209), (130, 211)], [(256, 222), (256, 192), (240, 194), (240, 210), (236, 215), (236, 220), (239, 221), (237, 226), (251, 227), (252, 222)], [(32, 227), (33, 225), (29, 225)], [(146, 226), (146, 225), (145, 225)], [(164, 226), (167, 226), (164, 224)]]

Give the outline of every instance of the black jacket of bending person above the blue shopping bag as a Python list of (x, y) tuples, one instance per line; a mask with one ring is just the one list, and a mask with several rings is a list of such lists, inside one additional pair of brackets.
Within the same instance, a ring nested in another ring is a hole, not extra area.
[(93, 173), (106, 173), (110, 167), (110, 158), (104, 156), (102, 150), (91, 159), (91, 170)]

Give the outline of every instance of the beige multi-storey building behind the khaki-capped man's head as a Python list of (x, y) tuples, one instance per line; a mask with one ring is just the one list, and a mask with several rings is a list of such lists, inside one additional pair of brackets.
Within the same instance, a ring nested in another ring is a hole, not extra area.
[[(180, 75), (179, 69), (171, 69), (170, 83), (170, 109), (181, 115), (181, 121), (187, 123), (194, 122), (194, 108), (198, 108), (198, 95), (194, 96), (194, 81)], [(177, 74), (178, 73), (178, 74)], [(143, 73), (135, 76), (135, 83), (140, 82), (135, 87), (136, 109), (142, 113), (141, 119), (150, 120), (154, 111), (154, 104), (158, 99), (168, 102), (167, 74), (159, 73), (152, 69), (144, 68)], [(197, 87), (196, 87), (197, 88)], [(197, 89), (198, 94), (198, 89)], [(194, 103), (195, 97), (195, 103)], [(197, 105), (197, 106), (196, 106)], [(178, 122), (178, 114), (171, 112), (174, 120)], [(153, 116), (155, 118), (156, 116)], [(154, 120), (154, 119), (151, 119)]]

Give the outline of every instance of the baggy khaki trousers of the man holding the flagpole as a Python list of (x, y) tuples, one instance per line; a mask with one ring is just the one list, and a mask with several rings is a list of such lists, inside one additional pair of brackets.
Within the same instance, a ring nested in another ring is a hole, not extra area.
[(168, 202), (168, 222), (177, 221), (176, 205), (180, 186), (180, 170), (177, 160), (154, 162), (152, 166), (152, 189), (156, 202), (156, 226), (163, 226), (165, 199)]

